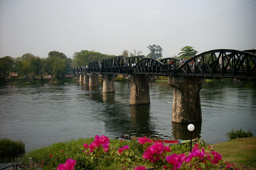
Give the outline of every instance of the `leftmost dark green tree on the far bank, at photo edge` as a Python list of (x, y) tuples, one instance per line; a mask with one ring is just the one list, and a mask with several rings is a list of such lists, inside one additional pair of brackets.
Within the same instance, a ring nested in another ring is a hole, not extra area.
[(6, 84), (10, 78), (10, 73), (14, 69), (15, 60), (10, 56), (0, 58), (0, 83)]

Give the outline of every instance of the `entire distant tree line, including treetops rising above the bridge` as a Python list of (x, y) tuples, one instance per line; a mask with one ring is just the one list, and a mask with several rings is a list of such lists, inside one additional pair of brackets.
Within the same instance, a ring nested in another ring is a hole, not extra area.
[[(146, 57), (162, 59), (162, 48), (159, 45), (149, 45), (147, 47), (150, 53)], [(185, 46), (180, 49), (181, 52), (175, 55), (175, 58), (189, 59), (196, 55), (197, 51), (193, 47)], [(125, 57), (139, 56), (141, 51), (131, 53), (124, 50), (121, 55)], [(116, 55), (101, 54), (95, 51), (82, 50), (75, 52), (73, 60), (59, 51), (51, 51), (47, 58), (40, 58), (30, 53), (21, 57), (13, 58), (4, 56), (0, 58), (0, 84), (6, 84), (11, 77), (24, 81), (43, 80), (44, 76), (51, 76), (51, 81), (62, 79), (71, 73), (74, 66), (89, 65), (89, 62), (102, 61), (103, 59), (114, 57)]]

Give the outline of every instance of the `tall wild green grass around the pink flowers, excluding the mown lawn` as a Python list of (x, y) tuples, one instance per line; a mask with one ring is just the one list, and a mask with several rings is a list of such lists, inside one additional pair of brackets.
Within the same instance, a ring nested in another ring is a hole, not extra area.
[[(24, 166), (28, 166), (28, 159), (33, 158), (34, 168), (41, 168), (42, 170), (56, 170), (59, 164), (65, 163), (69, 158), (76, 160), (76, 170), (79, 169), (109, 169), (117, 170), (120, 169), (120, 164), (117, 164), (114, 159), (106, 159), (101, 157), (96, 157), (93, 159), (87, 159), (86, 154), (84, 154), (84, 143), (92, 143), (94, 138), (89, 139), (78, 139), (70, 140), (66, 142), (52, 144), (47, 147), (42, 147), (40, 149), (33, 150), (26, 153), (22, 158), (21, 162)], [(138, 143), (138, 141), (120, 141), (120, 140), (110, 140), (111, 146), (115, 148), (121, 148), (124, 145), (129, 145), (130, 149), (134, 152), (134, 155), (143, 155), (145, 148), (143, 145)], [(206, 143), (201, 142), (202, 146), (206, 146)], [(190, 145), (173, 145), (173, 152), (184, 153), (190, 151)], [(90, 157), (91, 158), (91, 157)]]

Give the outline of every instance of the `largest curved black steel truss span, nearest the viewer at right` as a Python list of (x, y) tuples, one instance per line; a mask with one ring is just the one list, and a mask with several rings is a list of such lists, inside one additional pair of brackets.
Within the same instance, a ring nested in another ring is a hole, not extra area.
[(201, 53), (175, 71), (175, 75), (206, 78), (256, 78), (256, 55), (231, 49), (216, 49)]

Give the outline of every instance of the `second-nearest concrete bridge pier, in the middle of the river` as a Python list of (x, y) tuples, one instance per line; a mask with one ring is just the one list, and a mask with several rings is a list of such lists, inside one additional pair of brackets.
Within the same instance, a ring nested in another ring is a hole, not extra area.
[(125, 79), (132, 82), (130, 104), (150, 104), (149, 82), (152, 76), (148, 75), (129, 75)]

